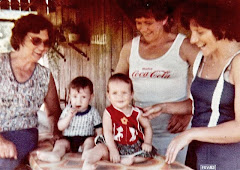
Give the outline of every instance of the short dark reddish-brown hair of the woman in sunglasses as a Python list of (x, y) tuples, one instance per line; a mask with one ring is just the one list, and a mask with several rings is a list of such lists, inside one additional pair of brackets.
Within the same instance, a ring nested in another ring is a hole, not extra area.
[(42, 15), (28, 14), (15, 21), (12, 29), (11, 45), (14, 50), (18, 50), (23, 43), (25, 36), (29, 33), (40, 33), (41, 30), (47, 30), (49, 43), (53, 44), (54, 30), (53, 24)]

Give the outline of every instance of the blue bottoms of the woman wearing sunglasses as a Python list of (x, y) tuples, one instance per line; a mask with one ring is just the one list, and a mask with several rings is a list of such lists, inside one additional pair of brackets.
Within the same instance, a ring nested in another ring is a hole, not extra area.
[(17, 148), (17, 160), (0, 158), (1, 170), (14, 170), (19, 164), (26, 161), (26, 158), (31, 151), (37, 148), (37, 128), (1, 132), (0, 135), (6, 140), (13, 142)]

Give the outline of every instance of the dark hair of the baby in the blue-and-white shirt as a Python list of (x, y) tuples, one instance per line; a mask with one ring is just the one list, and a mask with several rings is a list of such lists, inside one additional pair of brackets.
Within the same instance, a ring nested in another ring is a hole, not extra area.
[(70, 89), (76, 89), (77, 91), (79, 91), (80, 89), (84, 89), (86, 87), (88, 87), (90, 90), (90, 93), (93, 94), (92, 81), (89, 78), (83, 77), (83, 76), (76, 77), (71, 81), (71, 83), (68, 86), (69, 92), (70, 92)]

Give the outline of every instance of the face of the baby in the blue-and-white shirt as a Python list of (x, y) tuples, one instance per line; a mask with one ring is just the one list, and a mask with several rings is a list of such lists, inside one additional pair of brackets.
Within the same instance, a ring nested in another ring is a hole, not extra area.
[(78, 112), (84, 112), (88, 109), (88, 105), (92, 99), (92, 94), (88, 87), (81, 88), (79, 91), (76, 89), (70, 90), (70, 101), (72, 107)]

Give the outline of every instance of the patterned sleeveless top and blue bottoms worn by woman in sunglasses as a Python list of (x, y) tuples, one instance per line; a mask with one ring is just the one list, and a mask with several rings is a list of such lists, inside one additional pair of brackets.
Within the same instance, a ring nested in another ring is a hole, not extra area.
[(47, 95), (50, 71), (37, 64), (32, 76), (19, 83), (10, 54), (0, 54), (0, 135), (13, 142), (18, 159), (0, 159), (0, 169), (12, 170), (37, 147), (37, 111)]

